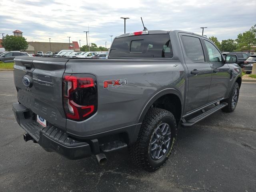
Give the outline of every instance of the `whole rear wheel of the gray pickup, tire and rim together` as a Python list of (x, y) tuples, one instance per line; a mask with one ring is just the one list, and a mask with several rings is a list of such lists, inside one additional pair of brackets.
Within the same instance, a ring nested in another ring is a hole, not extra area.
[(164, 165), (176, 140), (176, 120), (173, 114), (151, 108), (146, 114), (136, 143), (129, 146), (132, 162), (153, 172)]

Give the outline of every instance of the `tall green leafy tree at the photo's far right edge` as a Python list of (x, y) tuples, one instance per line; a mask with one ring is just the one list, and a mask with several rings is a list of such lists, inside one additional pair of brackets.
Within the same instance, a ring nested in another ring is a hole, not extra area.
[(240, 49), (246, 46), (248, 52), (250, 52), (251, 46), (256, 44), (255, 27), (252, 27), (249, 31), (238, 34), (236, 42), (238, 43), (238, 47)]

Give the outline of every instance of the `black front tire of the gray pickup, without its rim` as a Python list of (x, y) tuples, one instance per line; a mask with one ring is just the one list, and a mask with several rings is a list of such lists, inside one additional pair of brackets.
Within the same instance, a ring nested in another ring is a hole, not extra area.
[[(237, 91), (236, 103), (232, 104), (233, 99), (234, 99), (233, 97), (234, 97), (234, 94), (236, 91)], [(236, 109), (238, 98), (239, 98), (239, 85), (237, 82), (235, 82), (232, 89), (230, 90), (229, 97), (222, 101), (222, 102), (228, 103), (228, 105), (226, 107), (222, 108), (222, 111), (226, 112), (226, 113), (233, 112)]]

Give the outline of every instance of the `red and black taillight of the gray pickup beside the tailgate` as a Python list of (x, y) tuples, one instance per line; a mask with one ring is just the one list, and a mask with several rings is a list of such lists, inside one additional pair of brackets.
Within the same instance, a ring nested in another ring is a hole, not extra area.
[(82, 121), (97, 111), (96, 77), (90, 74), (64, 74), (63, 106), (66, 117)]

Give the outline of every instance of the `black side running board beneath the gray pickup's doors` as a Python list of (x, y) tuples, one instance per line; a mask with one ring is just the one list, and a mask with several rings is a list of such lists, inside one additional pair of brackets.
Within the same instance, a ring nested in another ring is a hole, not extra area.
[(221, 108), (224, 108), (225, 106), (227, 106), (228, 104), (226, 102), (222, 102), (220, 104), (215, 103), (215, 107), (205, 111), (204, 109), (202, 109), (202, 114), (190, 119), (190, 120), (186, 120), (185, 118), (182, 118), (182, 126), (183, 127), (190, 127), (192, 125), (194, 125), (195, 123), (197, 123), (200, 120), (203, 120), (204, 118), (208, 117), (209, 115), (213, 114), (214, 112), (220, 110)]

